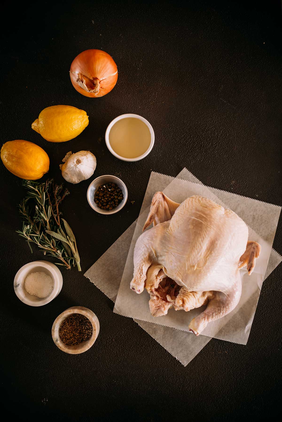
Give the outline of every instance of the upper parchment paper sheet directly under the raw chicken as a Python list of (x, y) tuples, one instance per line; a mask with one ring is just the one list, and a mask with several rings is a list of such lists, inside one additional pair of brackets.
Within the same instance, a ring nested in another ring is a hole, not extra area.
[[(156, 181), (162, 180), (163, 176), (154, 174), (151, 178), (153, 179), (153, 189), (151, 192), (147, 189), (145, 194), (145, 204), (148, 203), (149, 199), (147, 195), (151, 198), (153, 196), (153, 192), (158, 190), (155, 188)], [(150, 181), (148, 186), (151, 186)], [(192, 195), (202, 195), (210, 198), (225, 208), (228, 207), (215, 195), (215, 193), (219, 195), (220, 191), (217, 189), (211, 190), (203, 184), (200, 185), (189, 181), (174, 179), (163, 191), (168, 197), (178, 203), (181, 203), (187, 197)], [(233, 211), (240, 215), (246, 223), (249, 223), (249, 221), (254, 222), (256, 217), (259, 219), (260, 227), (262, 229), (261, 232), (264, 233), (264, 238), (257, 235), (257, 233), (249, 227), (249, 240), (257, 241), (261, 245), (261, 254), (260, 258), (257, 260), (255, 271), (251, 276), (247, 274), (246, 268), (240, 271), (242, 279), (242, 294), (238, 305), (224, 318), (209, 323), (205, 330), (203, 330), (202, 334), (235, 343), (246, 344), (252, 320), (255, 315), (260, 288), (266, 273), (281, 208), (260, 201), (251, 200), (249, 198), (247, 198), (245, 203), (244, 197), (234, 195), (229, 192), (224, 192), (224, 194), (227, 197), (227, 200), (228, 197), (232, 197)], [(189, 322), (192, 318), (200, 314), (204, 310), (204, 307), (193, 309), (189, 312), (175, 312), (171, 309), (168, 311), (167, 315), (156, 318), (152, 317), (148, 307), (148, 293), (144, 292), (141, 295), (136, 295), (136, 293), (129, 290), (129, 284), (133, 274), (134, 246), (137, 238), (142, 233), (142, 227), (148, 216), (149, 209), (149, 206), (142, 206), (141, 208), (132, 238), (131, 247), (129, 249), (129, 255), (126, 260), (126, 266), (120, 283), (118, 296), (115, 301), (114, 311), (127, 317), (188, 331)], [(268, 216), (267, 219), (264, 218), (265, 214)]]

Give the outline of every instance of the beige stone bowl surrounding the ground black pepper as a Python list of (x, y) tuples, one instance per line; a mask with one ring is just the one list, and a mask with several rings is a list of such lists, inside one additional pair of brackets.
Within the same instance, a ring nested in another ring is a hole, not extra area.
[[(59, 330), (60, 326), (64, 319), (66, 319), (71, 314), (82, 314), (92, 324), (93, 334), (88, 341), (83, 341), (82, 343), (77, 344), (76, 346), (68, 346), (67, 344), (63, 343), (60, 339)], [(70, 353), (70, 354), (78, 354), (86, 352), (86, 350), (90, 349), (91, 346), (96, 341), (100, 330), (99, 319), (96, 317), (94, 312), (90, 309), (85, 308), (84, 306), (72, 306), (71, 308), (66, 309), (66, 311), (62, 312), (54, 321), (52, 326), (52, 338), (54, 340), (55, 345), (61, 349), (63, 352)]]

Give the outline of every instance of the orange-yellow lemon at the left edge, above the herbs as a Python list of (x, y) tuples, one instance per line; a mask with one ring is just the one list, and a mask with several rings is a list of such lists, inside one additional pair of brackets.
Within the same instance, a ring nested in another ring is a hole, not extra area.
[(17, 139), (1, 148), (1, 160), (11, 173), (21, 179), (37, 180), (49, 170), (49, 157), (40, 146)]

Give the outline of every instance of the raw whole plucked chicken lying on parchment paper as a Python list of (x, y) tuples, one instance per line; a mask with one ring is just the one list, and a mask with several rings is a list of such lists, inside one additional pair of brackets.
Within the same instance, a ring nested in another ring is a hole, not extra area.
[(189, 331), (199, 335), (209, 322), (224, 317), (241, 296), (239, 269), (249, 275), (260, 245), (248, 241), (248, 227), (233, 211), (194, 195), (181, 204), (156, 192), (134, 249), (130, 287), (150, 293), (155, 317), (207, 305), (192, 319)]

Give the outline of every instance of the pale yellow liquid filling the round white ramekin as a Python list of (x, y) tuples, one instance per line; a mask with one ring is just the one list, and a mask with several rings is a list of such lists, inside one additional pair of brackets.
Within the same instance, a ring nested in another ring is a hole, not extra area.
[(124, 158), (137, 158), (149, 148), (151, 133), (142, 120), (125, 117), (112, 126), (109, 141), (116, 154)]

